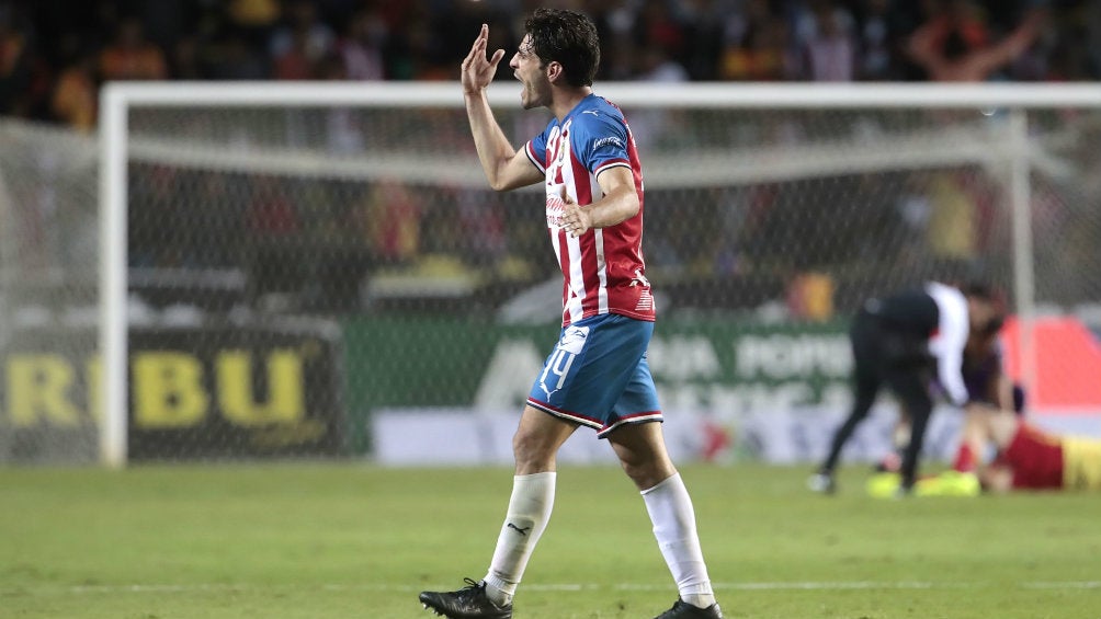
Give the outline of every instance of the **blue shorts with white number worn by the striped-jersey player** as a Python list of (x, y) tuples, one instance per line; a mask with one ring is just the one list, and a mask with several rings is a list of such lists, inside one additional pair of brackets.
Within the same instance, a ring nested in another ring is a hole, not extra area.
[(527, 404), (604, 438), (624, 423), (662, 421), (646, 363), (654, 323), (614, 313), (562, 330)]

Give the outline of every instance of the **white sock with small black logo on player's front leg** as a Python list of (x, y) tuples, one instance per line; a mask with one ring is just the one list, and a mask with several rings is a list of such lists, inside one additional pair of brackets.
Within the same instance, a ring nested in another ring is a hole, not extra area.
[(494, 604), (510, 604), (516, 594), (527, 560), (550, 519), (556, 478), (556, 473), (513, 477), (509, 512), (486, 575), (486, 595)]

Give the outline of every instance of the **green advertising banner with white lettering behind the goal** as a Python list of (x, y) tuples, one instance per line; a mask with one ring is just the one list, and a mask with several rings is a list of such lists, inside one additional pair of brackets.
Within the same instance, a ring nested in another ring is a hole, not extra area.
[[(522, 406), (558, 336), (555, 324), (433, 318), (346, 324), (349, 410), (357, 439), (379, 408)], [(650, 365), (663, 408), (777, 410), (848, 397), (846, 325), (659, 319)]]

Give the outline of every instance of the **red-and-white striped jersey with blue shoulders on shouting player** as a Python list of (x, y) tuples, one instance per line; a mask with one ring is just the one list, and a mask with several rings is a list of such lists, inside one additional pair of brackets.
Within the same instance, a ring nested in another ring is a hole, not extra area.
[[(654, 299), (642, 258), (642, 166), (620, 109), (589, 95), (562, 122), (552, 119), (525, 151), (546, 175), (547, 230), (564, 276), (563, 327), (602, 313), (654, 320)], [(597, 176), (617, 166), (634, 176), (639, 212), (578, 237), (568, 234), (559, 225), (563, 188), (581, 207), (596, 202), (603, 196)]]

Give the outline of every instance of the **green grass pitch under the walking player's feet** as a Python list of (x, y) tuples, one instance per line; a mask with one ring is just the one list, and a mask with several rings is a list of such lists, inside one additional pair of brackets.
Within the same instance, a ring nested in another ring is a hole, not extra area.
[[(727, 617), (1101, 618), (1101, 497), (832, 498), (805, 468), (683, 468)], [(511, 472), (0, 468), (0, 618), (435, 617), (481, 577)], [(614, 468), (565, 468), (517, 619), (650, 619), (676, 597)]]

